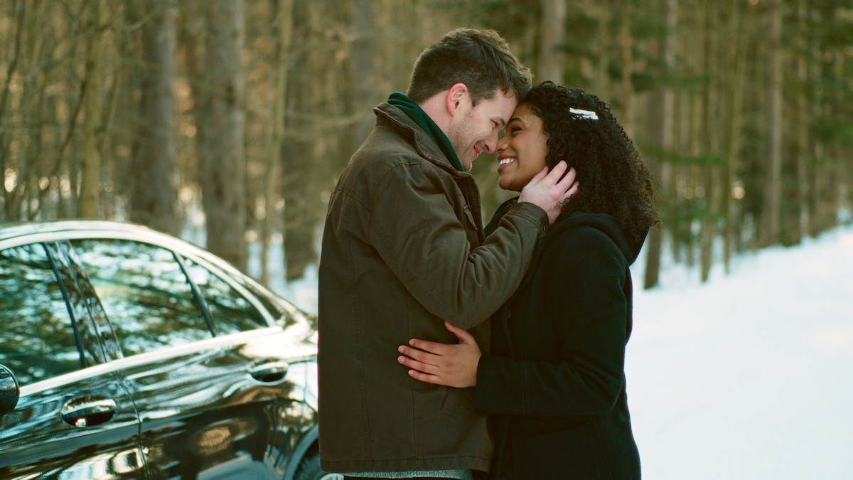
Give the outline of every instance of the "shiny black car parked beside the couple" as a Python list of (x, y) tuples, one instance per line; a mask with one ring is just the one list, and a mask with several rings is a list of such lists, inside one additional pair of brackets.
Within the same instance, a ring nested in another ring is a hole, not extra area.
[(0, 292), (0, 478), (341, 478), (319, 465), (316, 319), (214, 255), (3, 226)]

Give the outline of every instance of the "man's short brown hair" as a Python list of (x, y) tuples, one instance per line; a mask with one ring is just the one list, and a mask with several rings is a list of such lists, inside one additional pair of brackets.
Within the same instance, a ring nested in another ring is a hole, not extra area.
[(530, 69), (509, 51), (494, 30), (459, 28), (449, 32), (415, 61), (407, 95), (423, 102), (439, 91), (465, 84), (471, 102), (495, 97), (498, 88), (521, 100), (531, 89)]

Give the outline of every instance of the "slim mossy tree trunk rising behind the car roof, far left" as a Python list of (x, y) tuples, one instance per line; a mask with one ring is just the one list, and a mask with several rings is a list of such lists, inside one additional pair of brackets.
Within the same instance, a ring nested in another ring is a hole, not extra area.
[(103, 38), (107, 0), (92, 6), (92, 26), (86, 50), (86, 92), (83, 120), (83, 161), (80, 172), (80, 199), (77, 216), (98, 216), (98, 184), (101, 179), (101, 132), (103, 108)]

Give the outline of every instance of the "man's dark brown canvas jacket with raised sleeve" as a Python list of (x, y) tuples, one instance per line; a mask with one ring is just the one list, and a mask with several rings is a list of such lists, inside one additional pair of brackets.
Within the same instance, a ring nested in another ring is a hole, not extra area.
[(518, 203), (484, 237), (479, 190), (399, 108), (376, 127), (329, 201), (319, 274), (320, 454), (324, 471), (488, 471), (473, 389), (421, 383), (397, 363), (410, 338), (488, 351), (488, 319), (518, 287), (548, 216)]

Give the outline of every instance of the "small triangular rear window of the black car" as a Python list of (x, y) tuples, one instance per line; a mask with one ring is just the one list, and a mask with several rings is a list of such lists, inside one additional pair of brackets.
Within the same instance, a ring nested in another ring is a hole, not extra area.
[(218, 275), (189, 258), (183, 259), (189, 278), (198, 285), (219, 333), (228, 335), (267, 326), (264, 316), (240, 292)]

